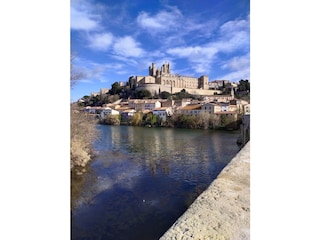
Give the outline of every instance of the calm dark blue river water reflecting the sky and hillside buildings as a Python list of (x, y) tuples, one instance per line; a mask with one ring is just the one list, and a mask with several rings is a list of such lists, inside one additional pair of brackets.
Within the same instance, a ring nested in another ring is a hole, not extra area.
[(239, 151), (239, 132), (98, 126), (72, 177), (71, 239), (159, 239)]

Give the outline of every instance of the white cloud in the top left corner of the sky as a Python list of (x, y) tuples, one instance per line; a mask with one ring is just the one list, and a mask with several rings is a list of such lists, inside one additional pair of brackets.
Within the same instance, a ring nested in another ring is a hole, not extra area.
[(73, 30), (94, 30), (99, 28), (98, 16), (86, 10), (70, 8), (70, 27)]

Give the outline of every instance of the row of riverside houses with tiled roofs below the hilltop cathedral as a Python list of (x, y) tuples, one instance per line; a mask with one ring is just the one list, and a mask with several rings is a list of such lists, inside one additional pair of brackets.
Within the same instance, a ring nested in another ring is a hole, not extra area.
[(204, 101), (182, 99), (129, 99), (115, 103), (104, 104), (99, 107), (87, 106), (85, 112), (97, 114), (101, 119), (108, 115), (121, 115), (122, 120), (132, 117), (136, 112), (158, 115), (162, 121), (175, 113), (185, 115), (210, 115), (227, 116), (235, 120), (244, 114), (250, 113), (250, 104), (247, 101), (235, 99), (231, 95), (214, 95), (205, 98)]

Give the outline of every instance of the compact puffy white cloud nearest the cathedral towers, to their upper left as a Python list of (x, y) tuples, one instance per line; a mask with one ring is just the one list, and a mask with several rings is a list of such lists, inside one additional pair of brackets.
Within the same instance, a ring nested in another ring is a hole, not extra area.
[(113, 50), (116, 55), (123, 57), (143, 57), (145, 51), (139, 45), (131, 36), (125, 36), (116, 40)]

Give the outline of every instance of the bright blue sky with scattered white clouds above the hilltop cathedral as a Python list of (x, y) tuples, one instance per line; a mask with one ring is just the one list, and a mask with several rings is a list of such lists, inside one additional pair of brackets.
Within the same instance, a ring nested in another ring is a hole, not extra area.
[(250, 80), (249, 0), (71, 0), (76, 101), (152, 62), (184, 76)]

